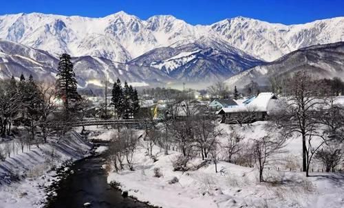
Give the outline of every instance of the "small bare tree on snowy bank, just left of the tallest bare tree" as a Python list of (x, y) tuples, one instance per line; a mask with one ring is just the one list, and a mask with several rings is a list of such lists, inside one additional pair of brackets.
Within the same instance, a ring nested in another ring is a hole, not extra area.
[(259, 170), (259, 182), (264, 181), (264, 167), (271, 161), (272, 156), (281, 153), (285, 142), (283, 137), (273, 138), (270, 136), (253, 140), (253, 154)]

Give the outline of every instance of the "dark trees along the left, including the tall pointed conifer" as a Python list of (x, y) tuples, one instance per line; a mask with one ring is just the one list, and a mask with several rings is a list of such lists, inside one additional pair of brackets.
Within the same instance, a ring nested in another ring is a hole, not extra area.
[[(18, 125), (28, 129), (28, 143), (37, 145), (47, 141), (50, 130), (66, 132), (72, 119), (80, 112), (82, 99), (76, 91), (76, 79), (70, 56), (63, 54), (58, 65), (56, 84), (35, 82), (30, 75), (26, 80), (23, 74), (17, 81), (12, 77), (2, 81), (0, 87), (0, 132), (1, 136), (11, 134), (11, 124), (15, 119)], [(58, 108), (58, 99), (63, 108)], [(39, 129), (40, 137), (36, 138)], [(23, 150), (23, 148), (22, 148)]]

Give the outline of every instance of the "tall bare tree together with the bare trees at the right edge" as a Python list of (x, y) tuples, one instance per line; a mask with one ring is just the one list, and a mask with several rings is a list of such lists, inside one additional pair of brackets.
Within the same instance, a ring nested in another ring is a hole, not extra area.
[(287, 82), (288, 97), (281, 100), (279, 109), (271, 116), (284, 137), (301, 135), (302, 169), (307, 176), (319, 150), (332, 156), (343, 151), (344, 108), (334, 102), (333, 95), (336, 94), (332, 86), (322, 81), (305, 71), (296, 73)]

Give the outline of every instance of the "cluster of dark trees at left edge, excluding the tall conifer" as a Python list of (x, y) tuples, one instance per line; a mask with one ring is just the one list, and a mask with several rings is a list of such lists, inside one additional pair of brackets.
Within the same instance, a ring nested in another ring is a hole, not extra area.
[(30, 141), (35, 140), (36, 128), (40, 128), (43, 141), (47, 139), (48, 117), (56, 109), (53, 97), (54, 87), (48, 84), (37, 84), (32, 76), (28, 80), (21, 75), (17, 82), (12, 77), (0, 83), (0, 132), (1, 137), (12, 135), (11, 124), (28, 128)]

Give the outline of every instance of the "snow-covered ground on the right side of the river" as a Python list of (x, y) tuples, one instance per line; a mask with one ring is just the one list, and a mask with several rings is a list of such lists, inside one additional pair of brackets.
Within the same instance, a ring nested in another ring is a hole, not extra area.
[[(266, 122), (251, 126), (221, 125), (226, 132), (235, 129), (245, 139), (255, 139), (266, 134)], [(301, 161), (301, 145), (298, 138), (291, 138), (283, 157)], [(120, 183), (120, 188), (138, 200), (149, 201), (164, 208), (189, 207), (344, 207), (344, 174), (311, 173), (306, 178), (299, 170), (289, 171), (281, 164), (277, 168), (264, 170), (269, 183), (259, 183), (256, 167), (242, 167), (221, 161), (215, 173), (210, 163), (198, 170), (173, 172), (172, 161), (180, 154), (171, 151), (165, 156), (160, 148), (153, 150), (158, 161), (147, 156), (147, 150), (138, 147), (134, 154), (135, 171), (111, 172), (107, 178), (111, 183)], [(189, 165), (195, 167), (201, 159), (193, 159)], [(160, 168), (162, 176), (154, 176)], [(286, 170), (286, 171), (284, 171)], [(316, 176), (315, 176), (316, 175)], [(170, 183), (172, 178), (177, 183)]]

